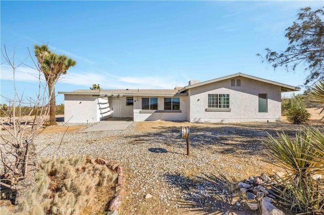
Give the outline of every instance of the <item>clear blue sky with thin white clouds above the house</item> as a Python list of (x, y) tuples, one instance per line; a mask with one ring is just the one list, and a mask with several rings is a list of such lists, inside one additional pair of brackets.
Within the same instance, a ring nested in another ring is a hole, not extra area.
[[(261, 63), (264, 48), (285, 50), (285, 29), (303, 7), (322, 1), (1, 1), (1, 48), (15, 50), (18, 64), (27, 47), (48, 43), (77, 62), (57, 91), (172, 89), (246, 73), (299, 86), (304, 68), (287, 73)], [(1, 95), (13, 97), (12, 70), (1, 58)], [(27, 59), (24, 64), (32, 66)], [(19, 94), (33, 97), (35, 71), (16, 71)], [(6, 102), (4, 97), (0, 103)], [(57, 104), (64, 96), (57, 96)]]

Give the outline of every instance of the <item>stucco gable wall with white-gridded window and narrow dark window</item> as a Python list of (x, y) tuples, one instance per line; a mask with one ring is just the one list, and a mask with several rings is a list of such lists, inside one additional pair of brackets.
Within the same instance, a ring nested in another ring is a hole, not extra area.
[[(273, 122), (281, 119), (281, 88), (239, 77), (240, 87), (231, 87), (230, 79), (188, 90), (190, 122)], [(268, 95), (268, 112), (259, 113), (259, 93)], [(208, 94), (229, 94), (230, 112), (207, 112)]]

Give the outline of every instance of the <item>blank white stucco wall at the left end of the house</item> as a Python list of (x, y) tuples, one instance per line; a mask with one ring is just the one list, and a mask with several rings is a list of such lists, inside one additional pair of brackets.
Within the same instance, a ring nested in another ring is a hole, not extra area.
[(91, 95), (65, 95), (64, 122), (98, 122), (97, 103), (97, 97)]

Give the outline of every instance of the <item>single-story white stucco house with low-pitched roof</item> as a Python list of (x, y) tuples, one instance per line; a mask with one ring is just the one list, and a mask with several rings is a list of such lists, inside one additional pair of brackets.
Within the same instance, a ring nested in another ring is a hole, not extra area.
[(242, 73), (189, 81), (175, 89), (75, 90), (64, 94), (64, 120), (274, 122), (281, 119), (281, 92), (300, 88)]

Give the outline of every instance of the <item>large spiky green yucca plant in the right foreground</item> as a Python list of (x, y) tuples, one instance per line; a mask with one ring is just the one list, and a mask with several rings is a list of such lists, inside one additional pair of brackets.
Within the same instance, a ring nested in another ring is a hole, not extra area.
[(324, 183), (312, 178), (324, 171), (323, 133), (310, 127), (299, 131), (294, 139), (285, 133), (277, 136), (268, 134), (269, 140), (264, 141), (276, 165), (286, 170), (285, 176), (276, 179), (276, 196), (295, 212), (323, 213)]

